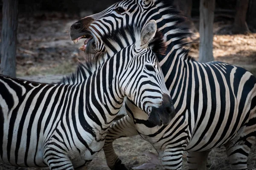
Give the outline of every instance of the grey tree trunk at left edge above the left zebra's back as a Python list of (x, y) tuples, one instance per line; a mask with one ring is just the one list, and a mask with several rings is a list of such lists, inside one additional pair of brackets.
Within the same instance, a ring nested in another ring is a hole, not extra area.
[(16, 77), (18, 0), (3, 0), (1, 74)]

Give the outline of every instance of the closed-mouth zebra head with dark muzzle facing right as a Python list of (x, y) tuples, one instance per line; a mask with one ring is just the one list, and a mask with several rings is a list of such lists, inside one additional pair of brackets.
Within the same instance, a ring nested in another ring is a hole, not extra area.
[[(168, 125), (175, 116), (175, 109), (154, 53), (155, 46), (157, 50), (166, 50), (165, 41), (162, 34), (157, 32), (154, 20), (149, 21), (137, 37), (140, 40), (122, 58), (128, 62), (119, 79), (120, 89), (122, 94), (148, 114), (149, 122)], [(124, 52), (121, 50), (119, 53)], [(132, 58), (129, 58), (130, 55)]]

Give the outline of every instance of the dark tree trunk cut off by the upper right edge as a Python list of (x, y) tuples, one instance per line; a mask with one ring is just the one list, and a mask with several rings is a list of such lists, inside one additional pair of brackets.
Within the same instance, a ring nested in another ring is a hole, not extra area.
[(247, 11), (247, 23), (250, 28), (256, 30), (256, 0), (250, 0)]

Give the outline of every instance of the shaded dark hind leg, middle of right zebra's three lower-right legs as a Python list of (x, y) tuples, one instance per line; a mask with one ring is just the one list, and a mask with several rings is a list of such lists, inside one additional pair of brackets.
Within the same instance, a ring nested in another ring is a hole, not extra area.
[(208, 170), (207, 158), (210, 150), (203, 152), (187, 152), (187, 163), (190, 170)]

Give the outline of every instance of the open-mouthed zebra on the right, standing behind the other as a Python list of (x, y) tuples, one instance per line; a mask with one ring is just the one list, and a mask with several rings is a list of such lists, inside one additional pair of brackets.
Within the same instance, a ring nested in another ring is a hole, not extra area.
[[(206, 169), (210, 150), (224, 145), (233, 170), (247, 169), (247, 156), (256, 136), (256, 78), (243, 68), (223, 62), (196, 62), (183, 46), (190, 36), (173, 0), (122, 0), (105, 11), (84, 17), (70, 27), (74, 42), (85, 38), (86, 53), (114, 54), (129, 45), (117, 40), (115, 48), (104, 37), (127, 25), (138, 27), (156, 20), (163, 34), (166, 54), (158, 54), (166, 87), (172, 96), (176, 115), (169, 125), (140, 121), (141, 112), (129, 100), (128, 116), (114, 123), (105, 140), (105, 156), (111, 169), (125, 166), (114, 153), (112, 142), (120, 137), (140, 135), (159, 153), (164, 169), (179, 170), (187, 151), (190, 169)], [(118, 45), (119, 48), (117, 48)]]

